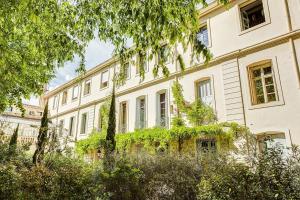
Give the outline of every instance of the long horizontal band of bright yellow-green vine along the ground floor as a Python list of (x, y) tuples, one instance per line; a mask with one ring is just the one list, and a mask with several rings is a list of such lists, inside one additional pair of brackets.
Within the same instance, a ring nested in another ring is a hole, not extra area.
[[(234, 124), (235, 125), (235, 124)], [(225, 129), (228, 129), (225, 131)], [(119, 152), (128, 151), (133, 144), (141, 144), (149, 152), (157, 149), (166, 149), (171, 142), (177, 142), (179, 138), (183, 140), (198, 136), (213, 136), (221, 140), (233, 142), (235, 131), (229, 124), (212, 124), (198, 127), (174, 127), (170, 130), (164, 128), (139, 129), (132, 133), (117, 134), (116, 149)], [(105, 134), (92, 133), (87, 139), (77, 142), (76, 151), (80, 154), (89, 153), (105, 144)]]

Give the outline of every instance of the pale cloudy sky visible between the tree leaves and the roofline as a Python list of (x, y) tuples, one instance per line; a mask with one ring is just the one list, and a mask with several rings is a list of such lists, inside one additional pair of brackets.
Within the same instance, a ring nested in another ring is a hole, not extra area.
[[(100, 41), (98, 38), (92, 40), (86, 48), (85, 54), (85, 66), (86, 69), (91, 69), (96, 65), (106, 61), (111, 58), (113, 52), (113, 45), (111, 43), (106, 43)], [(50, 81), (48, 88), (53, 90), (54, 88), (68, 82), (76, 76), (76, 68), (79, 65), (78, 57), (72, 62), (65, 63), (64, 67), (59, 68), (56, 71), (56, 77)], [(24, 99), (23, 103), (38, 105), (39, 100), (37, 97), (32, 97), (31, 99)]]

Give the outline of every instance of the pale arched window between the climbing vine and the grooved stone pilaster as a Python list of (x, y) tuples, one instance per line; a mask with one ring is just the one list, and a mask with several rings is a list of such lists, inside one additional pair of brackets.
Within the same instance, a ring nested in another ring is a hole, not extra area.
[(197, 83), (197, 96), (206, 105), (212, 105), (213, 94), (211, 87), (211, 79), (205, 79)]

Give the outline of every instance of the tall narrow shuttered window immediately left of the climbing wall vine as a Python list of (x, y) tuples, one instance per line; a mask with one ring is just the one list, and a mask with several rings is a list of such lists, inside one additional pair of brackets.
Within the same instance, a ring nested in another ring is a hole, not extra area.
[(161, 127), (167, 127), (167, 97), (166, 92), (157, 94), (158, 98), (158, 116), (156, 124)]

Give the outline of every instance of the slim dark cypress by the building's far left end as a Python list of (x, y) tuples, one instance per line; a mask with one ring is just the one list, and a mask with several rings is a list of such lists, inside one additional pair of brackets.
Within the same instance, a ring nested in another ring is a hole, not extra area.
[(41, 119), (41, 127), (39, 130), (39, 135), (38, 135), (38, 141), (36, 145), (36, 150), (33, 154), (32, 162), (34, 164), (39, 164), (43, 160), (44, 153), (45, 153), (45, 146), (47, 144), (48, 140), (48, 102), (46, 103), (44, 112), (43, 112), (43, 117)]

